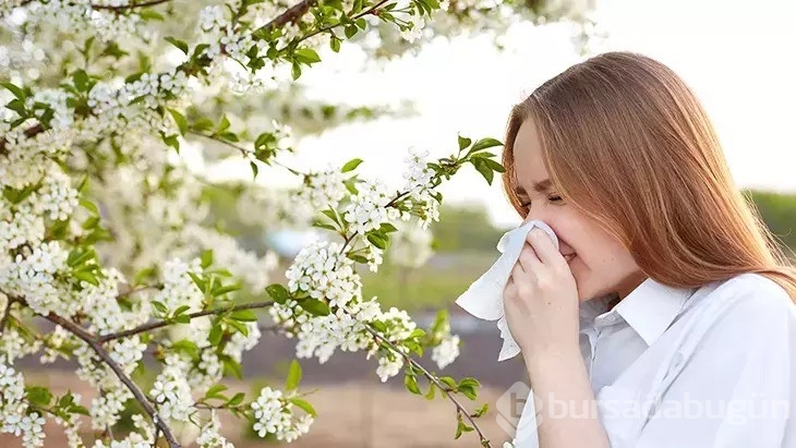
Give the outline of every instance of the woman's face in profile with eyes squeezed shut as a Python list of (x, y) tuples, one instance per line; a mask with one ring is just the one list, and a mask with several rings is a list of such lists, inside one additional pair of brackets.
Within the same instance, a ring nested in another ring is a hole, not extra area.
[(547, 170), (531, 120), (526, 120), (517, 133), (514, 157), (517, 194), (528, 211), (526, 220), (544, 221), (556, 233), (558, 251), (568, 259), (581, 301), (613, 292), (625, 298), (644, 280), (646, 276), (619, 241), (596, 221), (567, 205), (545, 182)]

